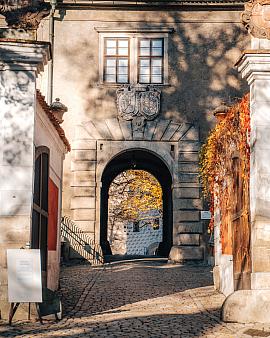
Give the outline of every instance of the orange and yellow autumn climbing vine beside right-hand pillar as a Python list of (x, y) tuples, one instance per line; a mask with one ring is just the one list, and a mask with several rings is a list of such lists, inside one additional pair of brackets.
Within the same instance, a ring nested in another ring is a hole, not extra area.
[[(200, 152), (200, 176), (203, 192), (209, 198), (211, 221), (214, 226), (214, 206), (221, 209), (221, 225), (226, 210), (235, 203), (232, 199), (235, 170), (233, 157), (239, 158), (239, 175), (242, 182), (242, 197), (248, 208), (250, 165), (250, 112), (249, 94), (229, 108), (226, 116), (211, 131)], [(218, 201), (218, 202), (217, 202)]]

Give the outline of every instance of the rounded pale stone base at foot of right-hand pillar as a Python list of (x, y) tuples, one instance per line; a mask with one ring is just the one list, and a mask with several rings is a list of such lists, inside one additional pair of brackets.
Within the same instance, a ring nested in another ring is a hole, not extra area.
[(270, 323), (270, 290), (239, 290), (226, 298), (222, 320), (236, 323)]

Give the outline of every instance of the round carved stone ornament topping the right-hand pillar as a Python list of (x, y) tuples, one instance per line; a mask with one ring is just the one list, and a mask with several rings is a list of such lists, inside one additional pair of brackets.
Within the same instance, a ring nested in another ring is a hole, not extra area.
[(270, 39), (270, 0), (247, 2), (241, 20), (253, 37)]

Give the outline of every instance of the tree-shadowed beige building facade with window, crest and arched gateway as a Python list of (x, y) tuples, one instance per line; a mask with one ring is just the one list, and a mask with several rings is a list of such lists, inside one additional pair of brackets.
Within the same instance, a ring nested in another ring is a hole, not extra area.
[(63, 214), (105, 253), (109, 185), (135, 165), (163, 188), (160, 254), (205, 259), (198, 152), (214, 123), (210, 112), (247, 90), (233, 68), (249, 40), (242, 9), (242, 2), (64, 1), (53, 25), (42, 21), (38, 39), (52, 40), (54, 27), (53, 95), (69, 107), (64, 128), (73, 140)]

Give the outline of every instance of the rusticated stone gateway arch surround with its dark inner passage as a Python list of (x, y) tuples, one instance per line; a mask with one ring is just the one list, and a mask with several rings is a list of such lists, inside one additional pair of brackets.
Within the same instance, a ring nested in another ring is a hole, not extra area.
[(204, 259), (200, 142), (194, 125), (170, 119), (138, 123), (118, 117), (84, 121), (75, 133), (73, 219), (105, 248), (105, 253), (108, 186), (117, 174), (131, 168), (133, 158), (137, 168), (153, 173), (166, 191), (167, 231), (160, 253), (174, 261)]

